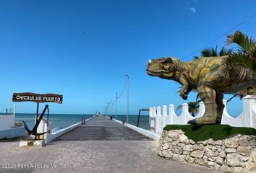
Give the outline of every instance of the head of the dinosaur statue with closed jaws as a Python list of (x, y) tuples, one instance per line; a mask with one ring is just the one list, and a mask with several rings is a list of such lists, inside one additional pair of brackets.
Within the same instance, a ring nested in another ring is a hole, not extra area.
[(175, 71), (174, 58), (158, 58), (148, 62), (147, 73), (150, 76), (173, 79), (176, 74)]

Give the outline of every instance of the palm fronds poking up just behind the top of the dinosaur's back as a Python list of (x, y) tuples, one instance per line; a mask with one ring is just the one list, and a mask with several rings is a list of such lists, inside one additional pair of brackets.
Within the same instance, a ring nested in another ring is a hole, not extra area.
[[(226, 49), (224, 47), (221, 48), (221, 51), (219, 53), (218, 53), (217, 49), (218, 49), (218, 46), (216, 46), (216, 48), (205, 48), (200, 52), (201, 57), (227, 56), (230, 53), (232, 53), (231, 49)], [(194, 56), (194, 59), (198, 59), (201, 57)]]

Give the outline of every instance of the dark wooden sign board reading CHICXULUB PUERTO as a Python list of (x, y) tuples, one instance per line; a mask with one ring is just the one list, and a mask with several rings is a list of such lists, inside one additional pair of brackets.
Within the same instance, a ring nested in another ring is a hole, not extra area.
[(35, 94), (31, 92), (14, 93), (12, 102), (55, 102), (62, 103), (63, 96), (59, 94)]

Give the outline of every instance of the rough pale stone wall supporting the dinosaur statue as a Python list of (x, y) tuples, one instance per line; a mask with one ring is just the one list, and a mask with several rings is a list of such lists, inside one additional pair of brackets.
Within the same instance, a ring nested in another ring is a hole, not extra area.
[(256, 172), (256, 136), (195, 142), (182, 130), (163, 130), (156, 154), (221, 172)]

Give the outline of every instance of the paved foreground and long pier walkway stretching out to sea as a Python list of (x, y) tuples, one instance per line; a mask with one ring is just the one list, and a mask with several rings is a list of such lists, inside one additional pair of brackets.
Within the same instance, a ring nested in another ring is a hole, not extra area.
[(19, 142), (0, 143), (2, 173), (213, 173), (195, 164), (156, 156), (157, 141), (113, 120), (96, 117), (43, 148), (19, 148)]

